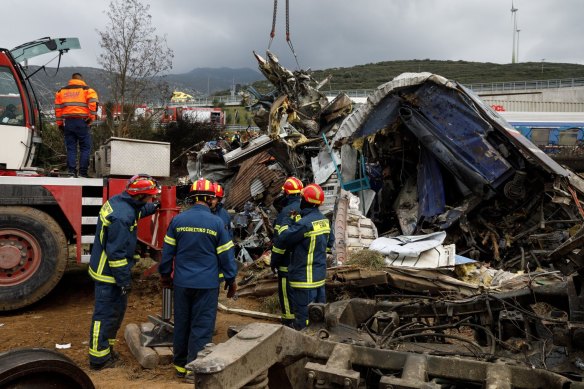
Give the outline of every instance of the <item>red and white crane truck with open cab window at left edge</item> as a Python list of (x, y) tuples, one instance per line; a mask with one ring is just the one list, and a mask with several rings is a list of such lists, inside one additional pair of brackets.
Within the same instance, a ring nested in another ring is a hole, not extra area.
[[(42, 38), (12, 50), (0, 48), (0, 311), (46, 296), (69, 259), (88, 263), (99, 209), (125, 189), (127, 177), (49, 177), (33, 166), (43, 123), (30, 76), (20, 63), (78, 48), (76, 38)], [(175, 190), (163, 187), (161, 210), (138, 225), (140, 246), (153, 254), (177, 213)]]

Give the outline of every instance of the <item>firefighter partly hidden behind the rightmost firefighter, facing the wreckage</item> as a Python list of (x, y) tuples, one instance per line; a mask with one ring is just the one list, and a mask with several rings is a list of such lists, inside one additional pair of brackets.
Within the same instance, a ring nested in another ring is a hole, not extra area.
[[(288, 177), (282, 185), (282, 190), (286, 196), (284, 208), (278, 213), (274, 221), (274, 237), (272, 239), (272, 260), (270, 267), (274, 273), (278, 274), (278, 298), (280, 302), (280, 312), (282, 324), (292, 326), (294, 314), (290, 303), (290, 285), (288, 284), (288, 265), (290, 264), (290, 251), (285, 252), (273, 244), (282, 231), (286, 231), (297, 215), (300, 214), (300, 191), (304, 185), (296, 177)], [(275, 255), (274, 255), (275, 253)], [(278, 254), (282, 254), (279, 255)]]

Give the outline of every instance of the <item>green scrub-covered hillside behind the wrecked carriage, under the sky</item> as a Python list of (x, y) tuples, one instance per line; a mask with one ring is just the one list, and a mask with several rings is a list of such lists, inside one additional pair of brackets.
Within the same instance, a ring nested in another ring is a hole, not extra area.
[[(374, 89), (406, 72), (430, 72), (439, 74), (462, 84), (533, 81), (551, 79), (583, 78), (584, 65), (569, 63), (525, 62), (518, 64), (496, 64), (468, 61), (387, 61), (358, 65), (350, 68), (316, 70), (312, 76), (320, 81), (332, 75), (327, 90)], [(252, 84), (261, 93), (273, 88), (268, 81)]]

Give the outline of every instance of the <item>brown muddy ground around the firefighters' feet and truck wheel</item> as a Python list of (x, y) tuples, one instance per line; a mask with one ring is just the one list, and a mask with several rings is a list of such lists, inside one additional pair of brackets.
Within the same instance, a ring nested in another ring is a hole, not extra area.
[[(123, 365), (101, 372), (89, 370), (88, 338), (93, 313), (93, 281), (85, 269), (67, 271), (59, 285), (43, 300), (26, 309), (0, 312), (0, 352), (15, 348), (43, 347), (55, 350), (56, 344), (71, 344), (68, 349), (58, 350), (71, 358), (91, 377), (96, 388), (188, 388), (175, 378), (172, 365), (146, 370), (134, 359), (124, 339), (124, 328), (129, 323), (148, 321), (148, 315), (161, 313), (161, 293), (157, 277), (141, 277), (136, 269), (134, 287), (128, 301), (128, 310), (118, 333), (116, 350), (121, 354)], [(221, 291), (220, 302), (233, 308), (260, 309), (260, 302), (240, 298), (225, 298)], [(215, 343), (227, 340), (231, 325), (243, 325), (258, 321), (249, 317), (218, 312)]]

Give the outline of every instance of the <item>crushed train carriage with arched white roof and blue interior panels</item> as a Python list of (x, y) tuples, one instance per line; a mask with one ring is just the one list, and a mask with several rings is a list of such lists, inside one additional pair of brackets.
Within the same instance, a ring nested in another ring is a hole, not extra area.
[[(582, 179), (438, 75), (402, 74), (380, 86), (332, 143), (351, 145), (380, 172), (369, 215), (385, 233), (446, 230), (458, 254), (535, 267), (582, 223)], [(352, 155), (342, 171), (359, 164)]]

